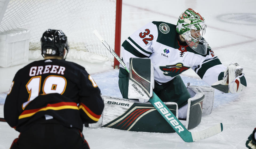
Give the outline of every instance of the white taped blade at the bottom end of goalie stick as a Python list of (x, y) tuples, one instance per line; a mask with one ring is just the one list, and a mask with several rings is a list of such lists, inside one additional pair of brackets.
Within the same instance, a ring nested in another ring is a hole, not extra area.
[(218, 133), (221, 133), (222, 131), (223, 131), (223, 125), (222, 125), (222, 123), (219, 123), (219, 124), (214, 125), (208, 129), (191, 133), (191, 135), (192, 135), (193, 141), (195, 142), (195, 141), (203, 140), (203, 139), (209, 138), (211, 136), (214, 136)]

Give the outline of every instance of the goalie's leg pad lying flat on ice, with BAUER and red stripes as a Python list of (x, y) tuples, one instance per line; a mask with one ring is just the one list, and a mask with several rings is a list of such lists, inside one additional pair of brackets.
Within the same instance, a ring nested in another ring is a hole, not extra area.
[[(110, 96), (102, 96), (102, 98), (105, 105), (102, 114), (102, 127), (127, 131), (175, 133), (174, 129), (166, 123), (166, 120), (149, 102), (144, 104), (137, 100)], [(177, 103), (164, 103), (178, 117)]]

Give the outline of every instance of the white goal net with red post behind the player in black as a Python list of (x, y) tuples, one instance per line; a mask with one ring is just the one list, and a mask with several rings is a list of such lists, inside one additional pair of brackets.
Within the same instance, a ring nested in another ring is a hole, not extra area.
[[(62, 30), (69, 42), (72, 59), (86, 59), (79, 52), (90, 52), (102, 61), (119, 63), (93, 34), (100, 34), (120, 55), (122, 0), (1, 0), (0, 32), (30, 30), (30, 52), (41, 55), (40, 38), (47, 29)], [(91, 54), (90, 54), (91, 55)], [(38, 57), (31, 57), (36, 59)]]

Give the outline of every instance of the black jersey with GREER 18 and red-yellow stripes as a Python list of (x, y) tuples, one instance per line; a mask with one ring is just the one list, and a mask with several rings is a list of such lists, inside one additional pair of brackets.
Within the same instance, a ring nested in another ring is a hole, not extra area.
[(41, 120), (82, 130), (83, 123), (99, 120), (103, 107), (100, 89), (84, 67), (47, 59), (34, 61), (16, 73), (5, 100), (4, 117), (20, 132)]

